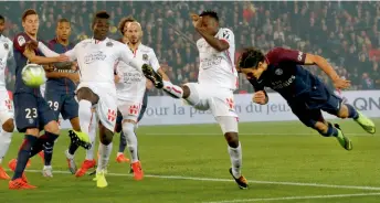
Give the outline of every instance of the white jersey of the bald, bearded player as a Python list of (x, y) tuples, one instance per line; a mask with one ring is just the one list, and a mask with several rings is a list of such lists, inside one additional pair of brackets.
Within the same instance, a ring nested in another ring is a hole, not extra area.
[[(125, 46), (128, 47), (127, 44)], [(134, 58), (150, 65), (156, 72), (160, 67), (155, 51), (151, 47), (139, 44), (133, 53)], [(129, 101), (142, 100), (147, 82), (144, 74), (122, 61), (116, 65), (116, 72), (120, 78), (119, 83), (116, 84), (117, 99)]]

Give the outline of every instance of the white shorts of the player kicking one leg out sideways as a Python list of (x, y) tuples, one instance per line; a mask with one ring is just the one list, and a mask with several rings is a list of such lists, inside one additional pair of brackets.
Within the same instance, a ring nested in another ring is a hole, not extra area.
[(194, 108), (211, 110), (214, 117), (226, 116), (238, 118), (231, 89), (215, 88), (198, 83), (187, 83), (184, 86), (190, 88), (190, 96), (186, 100)]

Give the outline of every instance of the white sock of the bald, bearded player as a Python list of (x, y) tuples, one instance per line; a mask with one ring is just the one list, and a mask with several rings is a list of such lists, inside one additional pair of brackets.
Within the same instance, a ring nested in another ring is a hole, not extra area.
[(130, 153), (131, 163), (138, 161), (138, 151), (137, 151), (137, 137), (135, 133), (135, 124), (123, 122), (123, 132), (127, 140), (127, 147)]

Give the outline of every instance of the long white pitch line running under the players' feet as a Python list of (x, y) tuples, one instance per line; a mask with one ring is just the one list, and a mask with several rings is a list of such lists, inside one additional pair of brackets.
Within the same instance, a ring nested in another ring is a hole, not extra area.
[[(28, 172), (41, 173), (41, 170), (27, 170)], [(68, 171), (53, 171), (53, 173), (71, 174)], [(127, 173), (107, 173), (110, 177), (131, 177)], [(147, 178), (156, 179), (172, 179), (172, 180), (191, 180), (191, 181), (209, 181), (209, 182), (234, 182), (231, 179), (215, 179), (215, 178), (199, 178), (199, 177), (181, 177), (181, 175), (157, 175), (145, 174)], [(339, 185), (339, 184), (319, 184), (319, 183), (302, 183), (302, 182), (277, 182), (277, 181), (255, 181), (250, 180), (250, 183), (255, 184), (276, 184), (276, 185), (293, 185), (293, 186), (315, 186), (315, 188), (332, 188), (332, 189), (352, 189), (366, 191), (380, 191), (378, 186), (359, 186), (359, 185)]]

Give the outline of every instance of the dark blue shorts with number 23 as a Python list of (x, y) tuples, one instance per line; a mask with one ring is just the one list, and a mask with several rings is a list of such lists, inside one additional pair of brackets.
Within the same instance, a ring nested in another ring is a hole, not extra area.
[(29, 128), (42, 130), (46, 124), (55, 120), (54, 111), (41, 95), (17, 93), (13, 103), (15, 126), (20, 132), (25, 132)]

